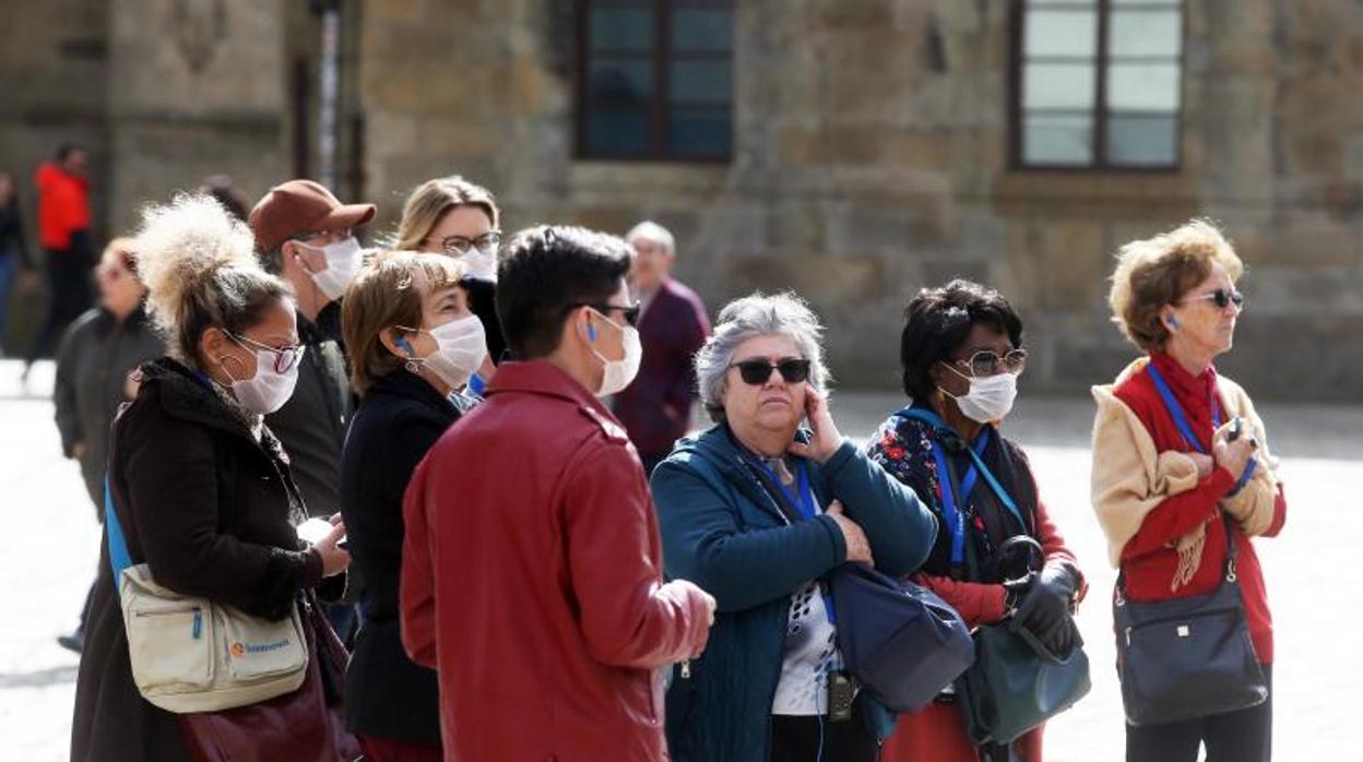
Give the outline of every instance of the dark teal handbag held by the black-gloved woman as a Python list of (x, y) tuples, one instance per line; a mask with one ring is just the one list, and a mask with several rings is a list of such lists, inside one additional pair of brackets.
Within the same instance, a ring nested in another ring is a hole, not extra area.
[[(1005, 543), (1000, 556), (1020, 541), (1041, 556), (1041, 545), (1026, 536)], [(975, 630), (975, 664), (955, 682), (955, 695), (970, 743), (1006, 746), (1074, 706), (1090, 687), (1082, 646), (1054, 654), (1026, 628), (987, 624)]]

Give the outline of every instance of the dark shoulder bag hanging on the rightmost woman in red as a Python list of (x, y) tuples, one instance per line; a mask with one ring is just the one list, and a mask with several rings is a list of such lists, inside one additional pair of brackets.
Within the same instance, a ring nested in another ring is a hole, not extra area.
[(1268, 684), (1244, 622), (1235, 578), (1239, 555), (1225, 519), (1225, 575), (1201, 596), (1137, 603), (1118, 575), (1112, 601), (1122, 705), (1131, 725), (1178, 722), (1249, 709), (1268, 699)]

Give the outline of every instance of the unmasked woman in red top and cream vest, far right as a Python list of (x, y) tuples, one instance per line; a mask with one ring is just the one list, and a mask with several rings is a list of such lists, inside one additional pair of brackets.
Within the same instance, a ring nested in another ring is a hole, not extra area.
[(1272, 754), (1273, 618), (1250, 538), (1281, 532), (1287, 500), (1250, 395), (1212, 364), (1234, 344), (1243, 270), (1221, 232), (1195, 219), (1123, 245), (1112, 274), (1112, 319), (1145, 352), (1112, 384), (1093, 387), (1093, 508), (1108, 560), (1122, 571), (1115, 594), (1127, 603), (1190, 598), (1238, 581), (1268, 688), (1255, 706), (1127, 722), (1130, 762), (1193, 762), (1202, 746), (1208, 759)]

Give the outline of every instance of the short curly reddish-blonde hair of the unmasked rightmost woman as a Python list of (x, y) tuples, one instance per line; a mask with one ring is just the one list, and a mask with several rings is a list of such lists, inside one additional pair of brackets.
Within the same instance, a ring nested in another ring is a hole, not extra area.
[(1163, 348), (1169, 330), (1160, 309), (1206, 279), (1213, 263), (1224, 267), (1232, 282), (1244, 273), (1231, 241), (1210, 219), (1190, 219), (1153, 239), (1130, 241), (1118, 251), (1112, 273), (1112, 322), (1137, 348)]

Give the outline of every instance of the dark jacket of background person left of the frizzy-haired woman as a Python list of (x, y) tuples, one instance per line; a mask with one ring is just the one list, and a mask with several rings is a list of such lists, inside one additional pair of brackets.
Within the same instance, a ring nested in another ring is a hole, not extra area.
[(99, 521), (104, 521), (109, 427), (128, 399), (128, 374), (162, 354), (165, 345), (140, 307), (121, 322), (108, 309), (90, 309), (61, 337), (57, 382), (52, 388), (57, 431), (68, 458), (74, 457), (78, 442), (85, 446), (80, 476)]

